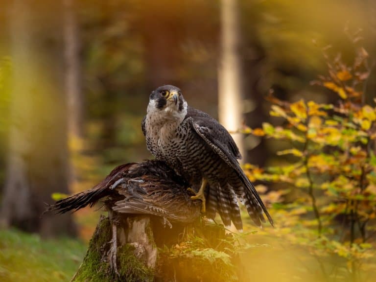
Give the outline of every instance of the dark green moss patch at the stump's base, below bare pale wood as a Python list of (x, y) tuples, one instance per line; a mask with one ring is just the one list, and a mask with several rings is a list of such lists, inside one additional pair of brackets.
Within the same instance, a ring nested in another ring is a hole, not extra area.
[[(135, 248), (125, 244), (118, 248), (119, 274), (118, 281), (139, 282), (153, 281), (153, 270), (135, 256)], [(124, 280), (126, 278), (126, 280)]]

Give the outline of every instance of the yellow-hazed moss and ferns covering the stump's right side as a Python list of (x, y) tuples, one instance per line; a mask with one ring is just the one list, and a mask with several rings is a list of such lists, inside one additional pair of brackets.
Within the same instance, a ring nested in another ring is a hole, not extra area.
[(184, 241), (159, 249), (158, 276), (163, 281), (236, 282), (236, 259), (233, 235), (221, 226), (200, 224)]

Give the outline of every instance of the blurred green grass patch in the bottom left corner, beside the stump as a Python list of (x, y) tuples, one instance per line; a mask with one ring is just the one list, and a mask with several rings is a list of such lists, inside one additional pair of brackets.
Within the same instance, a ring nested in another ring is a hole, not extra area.
[(75, 239), (44, 239), (0, 229), (1, 282), (70, 281), (87, 246)]

